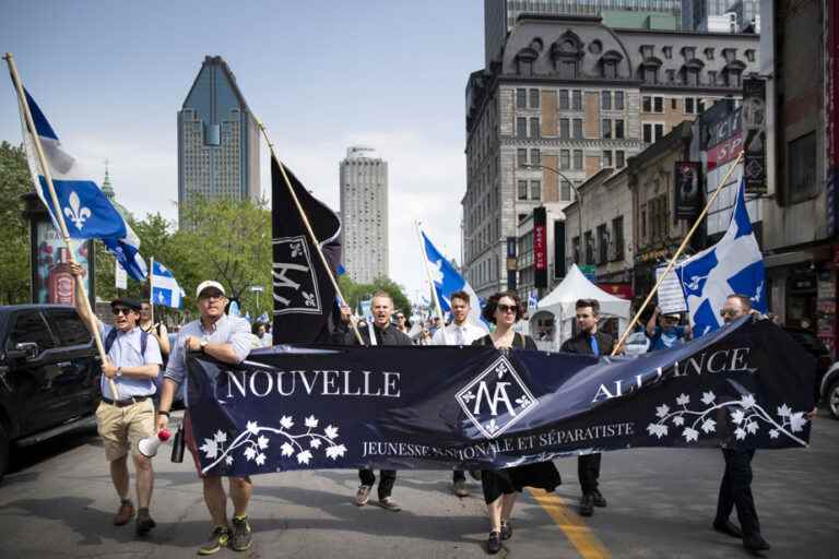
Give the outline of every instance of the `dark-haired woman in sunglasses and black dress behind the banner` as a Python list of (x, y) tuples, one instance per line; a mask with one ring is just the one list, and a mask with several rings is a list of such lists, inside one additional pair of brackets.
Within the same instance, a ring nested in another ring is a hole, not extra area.
[[(513, 292), (493, 295), (484, 307), (483, 317), (495, 324), (495, 332), (476, 340), (472, 345), (493, 345), (498, 349), (510, 347), (536, 349), (536, 344), (530, 336), (512, 330), (523, 314), (524, 307)], [(492, 530), (487, 550), (491, 554), (497, 554), (501, 549), (501, 540), (512, 537), (510, 516), (516, 496), (523, 487), (540, 487), (553, 491), (560, 483), (559, 472), (553, 462), (481, 472), (481, 485), (484, 489)]]

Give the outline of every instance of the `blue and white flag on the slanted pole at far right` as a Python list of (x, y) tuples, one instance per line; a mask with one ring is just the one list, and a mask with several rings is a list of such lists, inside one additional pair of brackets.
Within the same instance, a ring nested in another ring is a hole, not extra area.
[(675, 271), (695, 336), (722, 326), (720, 309), (729, 295), (745, 295), (752, 300), (753, 309), (767, 311), (764, 258), (746, 210), (745, 179), (740, 183), (731, 223), (722, 239), (677, 265)]

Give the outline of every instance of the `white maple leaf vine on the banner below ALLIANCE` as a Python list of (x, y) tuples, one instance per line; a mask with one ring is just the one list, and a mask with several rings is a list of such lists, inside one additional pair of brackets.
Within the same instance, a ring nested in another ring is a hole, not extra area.
[[(717, 420), (711, 417), (717, 417), (713, 412), (729, 408), (729, 419), (736, 426), (734, 438), (738, 441), (749, 436), (757, 436), (763, 424), (764, 428), (769, 429), (770, 439), (784, 435), (803, 447), (807, 445), (793, 433), (803, 431), (808, 419), (804, 412), (793, 412), (787, 404), (778, 406), (776, 415), (779, 419), (776, 419), (757, 404), (754, 394), (745, 394), (740, 400), (717, 403), (717, 395), (712, 391), (707, 391), (702, 392), (699, 401), (705, 407), (693, 411), (688, 407), (690, 396), (683, 393), (676, 396), (673, 411), (667, 404), (657, 406), (658, 420), (647, 426), (647, 432), (650, 437), (662, 439), (669, 435), (672, 426), (674, 430), (682, 430), (681, 436), (685, 438), (685, 442), (697, 442), (702, 433), (710, 435), (717, 431)], [(671, 425), (667, 425), (667, 421)]]

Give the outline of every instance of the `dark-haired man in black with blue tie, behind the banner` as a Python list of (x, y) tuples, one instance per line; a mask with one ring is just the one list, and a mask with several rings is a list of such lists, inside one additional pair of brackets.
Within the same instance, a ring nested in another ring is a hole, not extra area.
[[(581, 355), (611, 355), (615, 347), (615, 340), (598, 330), (600, 302), (596, 299), (579, 299), (575, 307), (579, 332), (563, 344), (562, 350)], [(606, 506), (606, 499), (598, 489), (600, 453), (579, 456), (577, 459), (577, 476), (582, 489), (580, 514), (591, 516), (594, 514), (594, 507)]]

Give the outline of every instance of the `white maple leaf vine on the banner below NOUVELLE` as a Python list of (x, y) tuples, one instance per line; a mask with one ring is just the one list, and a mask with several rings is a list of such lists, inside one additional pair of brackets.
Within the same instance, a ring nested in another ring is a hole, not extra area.
[(232, 466), (237, 456), (235, 451), (239, 449), (241, 449), (239, 457), (248, 462), (252, 461), (258, 466), (263, 466), (268, 459), (267, 452), (272, 439), (277, 438), (282, 441), (280, 444), (280, 456), (294, 456), (297, 460), (297, 464), (308, 465), (315, 457), (314, 452), (321, 450), (321, 448), (330, 460), (338, 460), (346, 453), (346, 447), (339, 444), (336, 441), (339, 437), (338, 426), (328, 425), (323, 428), (322, 432), (318, 432), (317, 429), (320, 420), (314, 415), (304, 418), (303, 425), (305, 430), (300, 430), (297, 433), (292, 431), (296, 425), (292, 416), (281, 416), (279, 424), (280, 428), (274, 428), (260, 426), (257, 421), (248, 421), (245, 431), (239, 433), (228, 445), (225, 445), (227, 433), (222, 430), (215, 431), (212, 439), (204, 439), (203, 444), (199, 447), (204, 457), (213, 460), (201, 472), (209, 472), (221, 462)]

